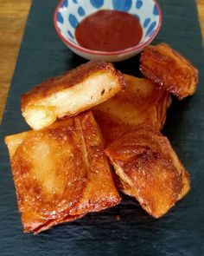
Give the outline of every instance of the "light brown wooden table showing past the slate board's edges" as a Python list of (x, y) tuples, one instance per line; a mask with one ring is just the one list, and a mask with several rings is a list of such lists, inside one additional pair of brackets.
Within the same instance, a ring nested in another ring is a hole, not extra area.
[[(31, 0), (0, 2), (0, 123)], [(196, 0), (204, 38), (204, 0)]]

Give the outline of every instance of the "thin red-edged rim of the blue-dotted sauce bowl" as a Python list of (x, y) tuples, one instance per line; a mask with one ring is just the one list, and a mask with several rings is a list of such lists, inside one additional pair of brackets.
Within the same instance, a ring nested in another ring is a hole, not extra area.
[(57, 13), (58, 13), (59, 9), (61, 8), (61, 4), (64, 1), (65, 0), (61, 0), (61, 2), (58, 3), (58, 5), (54, 11), (54, 29), (56, 30), (58, 36), (61, 38), (62, 42), (64, 42), (65, 44), (68, 44), (73, 49), (76, 49), (76, 50), (86, 53), (86, 54), (92, 54), (95, 56), (116, 56), (116, 55), (126, 54), (126, 53), (130, 53), (130, 52), (133, 52), (136, 50), (143, 49), (145, 46), (147, 46), (148, 44), (150, 44), (152, 42), (152, 40), (156, 37), (156, 35), (158, 34), (158, 32), (162, 26), (162, 20), (163, 20), (162, 10), (160, 8), (159, 3), (157, 3), (156, 0), (152, 0), (156, 4), (156, 8), (159, 13), (159, 23), (158, 23), (158, 26), (156, 27), (156, 30), (154, 31), (154, 33), (151, 34), (150, 38), (147, 41), (145, 41), (144, 43), (141, 43), (141, 44), (137, 44), (136, 46), (133, 46), (131, 48), (120, 49), (120, 50), (116, 50), (116, 51), (100, 51), (100, 50), (86, 49), (80, 45), (72, 43), (69, 39), (67, 39), (65, 36), (63, 36), (61, 34), (61, 31), (59, 30), (59, 27), (57, 25)]

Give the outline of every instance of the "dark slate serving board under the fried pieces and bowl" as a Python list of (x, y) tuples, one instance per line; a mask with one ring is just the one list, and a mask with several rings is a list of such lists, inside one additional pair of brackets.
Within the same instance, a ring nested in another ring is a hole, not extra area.
[[(92, 213), (82, 220), (55, 226), (37, 236), (23, 234), (7, 149), (0, 144), (0, 255), (204, 255), (204, 91), (201, 32), (194, 1), (159, 1), (163, 27), (154, 43), (166, 42), (200, 69), (193, 97), (174, 100), (164, 133), (169, 137), (192, 179), (188, 196), (161, 220), (154, 220), (124, 197), (118, 207)], [(3, 116), (3, 136), (25, 130), (20, 95), (36, 83), (60, 75), (82, 62), (56, 36), (53, 26), (56, 0), (33, 3), (16, 71)], [(118, 63), (137, 75), (138, 57)], [(119, 215), (120, 220), (115, 220)]]

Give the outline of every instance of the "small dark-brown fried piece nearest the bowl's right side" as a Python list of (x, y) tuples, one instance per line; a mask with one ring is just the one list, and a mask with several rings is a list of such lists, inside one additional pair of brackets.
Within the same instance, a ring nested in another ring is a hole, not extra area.
[(145, 47), (140, 61), (144, 77), (173, 93), (179, 100), (194, 94), (198, 70), (168, 44)]

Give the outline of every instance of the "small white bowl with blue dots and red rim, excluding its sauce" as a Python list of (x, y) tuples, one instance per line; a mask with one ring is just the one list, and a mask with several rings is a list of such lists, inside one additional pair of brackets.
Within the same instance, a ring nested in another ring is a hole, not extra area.
[[(136, 46), (118, 51), (86, 49), (75, 39), (75, 29), (82, 19), (98, 10), (120, 10), (137, 16), (143, 37)], [(88, 60), (123, 61), (137, 55), (151, 43), (160, 30), (162, 12), (156, 0), (62, 0), (54, 13), (54, 27), (67, 47)]]

